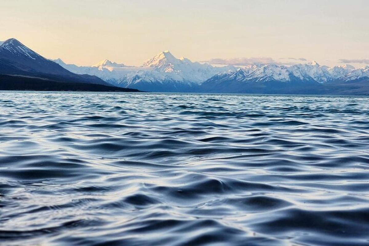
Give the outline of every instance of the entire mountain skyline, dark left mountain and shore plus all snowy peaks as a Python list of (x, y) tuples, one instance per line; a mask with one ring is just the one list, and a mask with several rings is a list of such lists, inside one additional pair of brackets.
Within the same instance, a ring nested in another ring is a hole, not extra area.
[(313, 61), (292, 66), (255, 63), (219, 67), (177, 59), (169, 51), (158, 53), (141, 66), (107, 59), (93, 66), (77, 66), (46, 59), (11, 38), (0, 42), (0, 89), (6, 84), (17, 89), (14, 81), (24, 89), (36, 83), (38, 89), (46, 85), (52, 90), (51, 84), (59, 83), (54, 87), (63, 90), (93, 90), (96, 86), (104, 90), (101, 86), (107, 86), (107, 90), (120, 91), (369, 95), (369, 66), (328, 67)]

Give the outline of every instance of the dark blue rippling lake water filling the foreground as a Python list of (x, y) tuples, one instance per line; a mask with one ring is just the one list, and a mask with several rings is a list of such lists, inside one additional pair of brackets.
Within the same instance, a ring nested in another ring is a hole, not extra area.
[(0, 92), (1, 245), (369, 245), (369, 97)]

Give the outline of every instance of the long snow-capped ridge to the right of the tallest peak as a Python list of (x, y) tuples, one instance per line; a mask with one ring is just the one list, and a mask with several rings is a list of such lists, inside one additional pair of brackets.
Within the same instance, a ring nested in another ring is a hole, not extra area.
[[(296, 94), (310, 91), (313, 94), (324, 94), (327, 91), (334, 91), (334, 84), (343, 86), (342, 82), (349, 81), (369, 81), (369, 67), (361, 69), (355, 69), (351, 65), (328, 67), (320, 66), (317, 62), (289, 67), (275, 64), (249, 65), (211, 77), (201, 84), (200, 91)], [(328, 85), (323, 86), (325, 84)]]

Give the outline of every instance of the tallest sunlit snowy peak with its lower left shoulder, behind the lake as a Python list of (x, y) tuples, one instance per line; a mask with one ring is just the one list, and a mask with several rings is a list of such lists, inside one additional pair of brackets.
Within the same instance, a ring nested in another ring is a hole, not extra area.
[(66, 64), (61, 59), (53, 61), (73, 73), (95, 75), (116, 86), (147, 91), (193, 91), (210, 77), (236, 69), (234, 66), (213, 67), (183, 57), (177, 59), (169, 51), (158, 53), (139, 67), (109, 60), (93, 66)]

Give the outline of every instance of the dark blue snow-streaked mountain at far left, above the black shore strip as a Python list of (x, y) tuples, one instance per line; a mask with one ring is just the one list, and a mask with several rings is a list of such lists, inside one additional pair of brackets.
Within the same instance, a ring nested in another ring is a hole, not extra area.
[(69, 72), (15, 38), (0, 43), (0, 74), (25, 75), (59, 82), (110, 85), (96, 76)]

